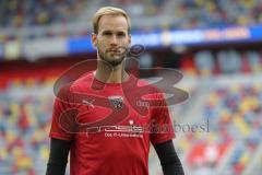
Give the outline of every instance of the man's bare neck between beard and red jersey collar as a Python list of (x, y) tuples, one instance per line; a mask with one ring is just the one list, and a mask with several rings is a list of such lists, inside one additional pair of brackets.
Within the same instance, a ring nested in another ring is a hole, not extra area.
[(123, 62), (111, 67), (104, 61), (98, 61), (95, 78), (105, 83), (122, 83), (128, 80), (129, 74), (124, 71)]

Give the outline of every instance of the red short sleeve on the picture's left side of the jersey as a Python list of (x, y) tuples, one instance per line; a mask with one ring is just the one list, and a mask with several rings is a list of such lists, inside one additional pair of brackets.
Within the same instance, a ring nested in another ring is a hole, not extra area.
[[(63, 93), (59, 92), (59, 95), (55, 100), (49, 137), (61, 140), (72, 140), (74, 133), (68, 129), (70, 128), (68, 126), (73, 125), (73, 120), (70, 118), (74, 116), (70, 113), (71, 105), (64, 101), (64, 96), (67, 96), (67, 91), (63, 91)], [(67, 100), (69, 98), (67, 97)]]

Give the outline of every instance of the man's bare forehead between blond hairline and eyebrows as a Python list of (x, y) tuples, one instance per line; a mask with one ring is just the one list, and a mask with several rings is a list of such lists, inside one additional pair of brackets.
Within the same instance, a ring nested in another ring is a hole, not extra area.
[(128, 22), (123, 15), (103, 15), (98, 26), (98, 33), (103, 31), (128, 32)]

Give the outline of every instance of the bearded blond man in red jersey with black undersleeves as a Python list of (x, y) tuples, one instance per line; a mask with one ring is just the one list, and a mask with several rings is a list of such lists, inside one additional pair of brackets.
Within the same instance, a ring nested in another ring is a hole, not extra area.
[[(150, 97), (160, 102), (150, 107), (138, 97), (138, 79), (123, 69), (131, 44), (129, 16), (118, 8), (102, 8), (93, 27), (97, 68), (62, 89), (56, 98), (46, 174), (63, 175), (70, 151), (71, 175), (147, 175), (150, 142), (165, 175), (183, 174), (163, 95), (140, 82), (152, 92)], [(152, 125), (158, 130), (151, 129)], [(162, 126), (169, 129), (159, 130)]]

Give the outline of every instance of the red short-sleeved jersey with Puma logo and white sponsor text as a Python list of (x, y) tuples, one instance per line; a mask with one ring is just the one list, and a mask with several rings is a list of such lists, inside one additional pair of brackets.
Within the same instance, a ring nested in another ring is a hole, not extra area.
[[(103, 83), (87, 73), (56, 98), (49, 136), (73, 140), (71, 175), (147, 175), (150, 142), (175, 138), (164, 95), (145, 81), (134, 88), (136, 80)], [(143, 85), (160, 107), (138, 97)]]

